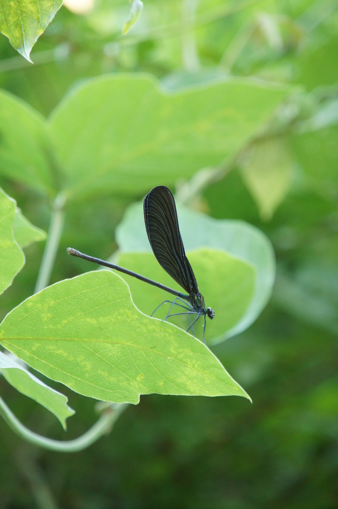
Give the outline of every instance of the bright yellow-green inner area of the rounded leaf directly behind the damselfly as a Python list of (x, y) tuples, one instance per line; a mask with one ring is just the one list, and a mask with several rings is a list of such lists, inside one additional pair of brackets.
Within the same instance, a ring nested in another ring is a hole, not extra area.
[[(201, 248), (188, 252), (187, 256), (206, 300), (206, 306), (212, 307), (215, 312), (212, 321), (206, 319), (205, 334), (206, 342), (213, 344), (217, 339), (219, 341), (228, 336), (229, 331), (245, 316), (255, 291), (256, 270), (251, 264), (230, 256), (225, 251)], [(162, 269), (153, 253), (121, 253), (118, 265), (182, 292), (182, 288)], [(148, 316), (163, 300), (173, 300), (173, 297), (163, 290), (153, 286), (145, 288), (144, 282), (134, 277), (123, 274), (123, 278), (130, 287), (135, 305)], [(164, 318), (169, 307), (170, 305), (166, 305), (164, 309), (159, 309), (154, 316)], [(172, 313), (179, 312), (184, 312), (184, 309), (176, 306), (172, 310)], [(178, 322), (185, 329), (189, 326), (186, 318), (185, 316), (184, 320)], [(202, 318), (194, 325), (195, 336), (200, 339), (203, 337), (203, 325)]]

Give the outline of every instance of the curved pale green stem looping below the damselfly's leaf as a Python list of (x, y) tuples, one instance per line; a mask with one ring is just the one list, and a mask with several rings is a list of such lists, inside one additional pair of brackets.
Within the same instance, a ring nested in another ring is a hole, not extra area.
[(8, 408), (0, 397), (0, 415), (7, 422), (8, 426), (23, 440), (43, 447), (44, 449), (58, 451), (59, 453), (74, 453), (83, 450), (96, 442), (102, 435), (109, 433), (121, 413), (128, 404), (112, 403), (94, 426), (82, 436), (69, 441), (52, 440), (27, 429)]

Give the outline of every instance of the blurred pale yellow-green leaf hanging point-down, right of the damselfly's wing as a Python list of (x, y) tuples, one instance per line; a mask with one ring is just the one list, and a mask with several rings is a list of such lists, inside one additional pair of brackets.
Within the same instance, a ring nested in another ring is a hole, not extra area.
[(262, 219), (271, 219), (283, 202), (291, 184), (292, 166), (288, 143), (281, 136), (257, 140), (246, 151), (241, 175)]

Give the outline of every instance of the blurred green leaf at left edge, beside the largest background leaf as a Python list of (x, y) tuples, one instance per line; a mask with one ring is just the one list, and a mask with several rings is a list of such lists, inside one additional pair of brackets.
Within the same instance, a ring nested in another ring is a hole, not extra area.
[(50, 192), (56, 186), (51, 151), (45, 119), (25, 102), (0, 90), (0, 174)]

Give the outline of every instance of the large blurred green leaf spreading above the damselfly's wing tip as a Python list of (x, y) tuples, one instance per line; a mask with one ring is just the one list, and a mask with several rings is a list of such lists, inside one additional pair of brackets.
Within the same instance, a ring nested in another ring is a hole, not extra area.
[(227, 80), (170, 93), (149, 75), (111, 75), (75, 88), (49, 123), (69, 195), (139, 194), (235, 154), (286, 89)]

